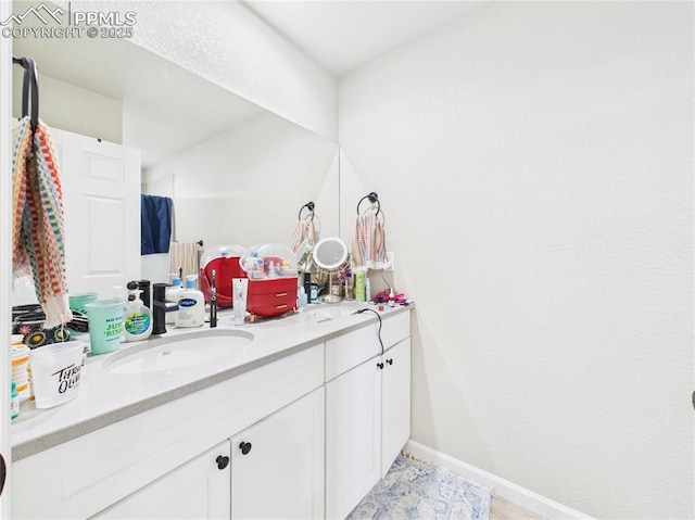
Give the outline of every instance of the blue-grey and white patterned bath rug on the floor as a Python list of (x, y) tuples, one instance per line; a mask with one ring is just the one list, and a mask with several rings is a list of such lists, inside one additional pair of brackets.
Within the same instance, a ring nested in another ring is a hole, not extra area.
[(488, 490), (399, 455), (346, 520), (488, 520), (490, 500)]

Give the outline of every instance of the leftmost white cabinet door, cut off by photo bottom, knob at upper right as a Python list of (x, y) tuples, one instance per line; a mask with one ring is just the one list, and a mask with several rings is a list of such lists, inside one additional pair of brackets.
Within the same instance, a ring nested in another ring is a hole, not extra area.
[(98, 519), (229, 519), (229, 442), (96, 515)]

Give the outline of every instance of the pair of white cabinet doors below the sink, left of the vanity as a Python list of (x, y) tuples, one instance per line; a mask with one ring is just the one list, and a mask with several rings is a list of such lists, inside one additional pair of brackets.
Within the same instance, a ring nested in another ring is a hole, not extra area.
[(319, 519), (324, 516), (324, 389), (92, 517)]

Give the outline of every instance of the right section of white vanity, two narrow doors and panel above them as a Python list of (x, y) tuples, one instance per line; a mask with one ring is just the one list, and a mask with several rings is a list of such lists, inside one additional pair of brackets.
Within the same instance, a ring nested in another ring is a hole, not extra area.
[[(342, 519), (410, 432), (409, 313), (326, 342), (326, 518)], [(330, 379), (333, 377), (333, 379)]]

